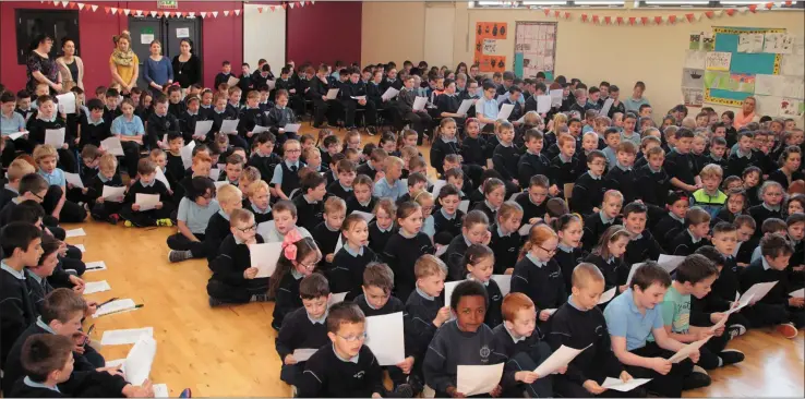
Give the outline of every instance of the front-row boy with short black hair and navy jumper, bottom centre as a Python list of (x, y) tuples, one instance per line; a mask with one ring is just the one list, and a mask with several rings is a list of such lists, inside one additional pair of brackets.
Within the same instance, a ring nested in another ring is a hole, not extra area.
[[(508, 360), (492, 329), (483, 324), (486, 290), (478, 281), (461, 281), (450, 298), (457, 319), (440, 328), (428, 347), (422, 365), (428, 386), (438, 397), (461, 397), (456, 382), (458, 365), (492, 365)], [(497, 397), (503, 386), (514, 385), (514, 371), (504, 371), (500, 385), (490, 392)]]

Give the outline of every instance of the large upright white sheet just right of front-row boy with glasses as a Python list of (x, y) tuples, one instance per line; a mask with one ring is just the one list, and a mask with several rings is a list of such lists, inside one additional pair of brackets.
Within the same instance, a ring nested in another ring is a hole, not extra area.
[(377, 363), (395, 365), (406, 359), (403, 312), (367, 317), (367, 340)]

